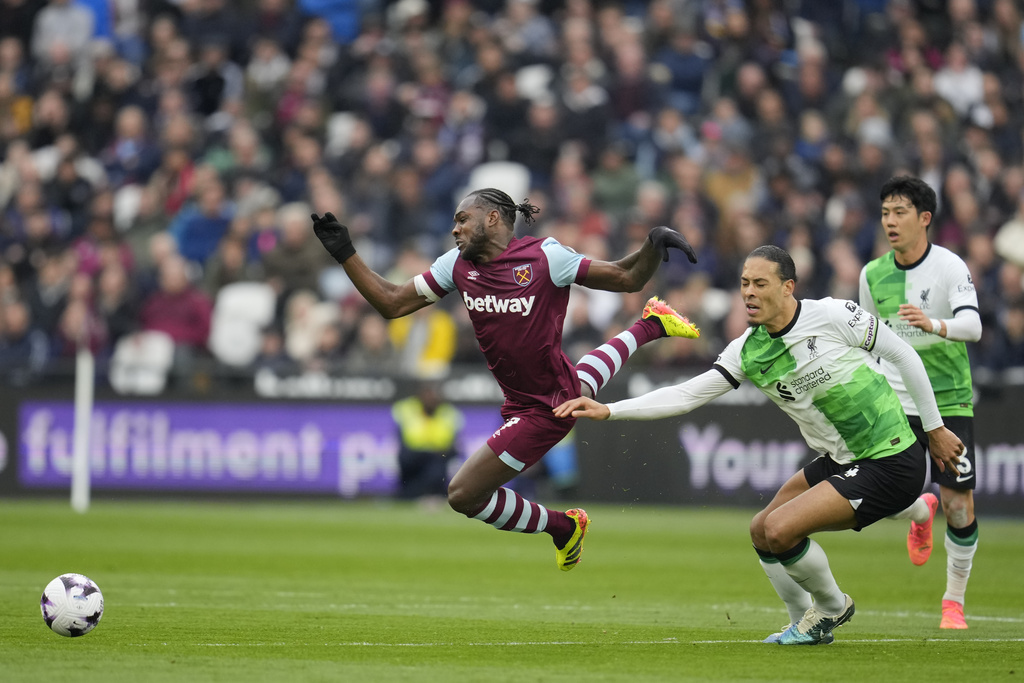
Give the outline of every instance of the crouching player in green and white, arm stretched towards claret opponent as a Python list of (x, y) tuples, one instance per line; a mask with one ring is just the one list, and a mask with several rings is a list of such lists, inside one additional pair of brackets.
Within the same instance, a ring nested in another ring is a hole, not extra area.
[(761, 566), (791, 623), (765, 642), (817, 645), (849, 621), (854, 605), (809, 539), (816, 531), (859, 530), (909, 506), (927, 470), (922, 445), (896, 392), (871, 367), (871, 354), (898, 368), (928, 432), (939, 467), (953, 467), (964, 444), (942, 424), (924, 364), (913, 349), (852, 301), (794, 295), (793, 258), (774, 246), (746, 257), (740, 294), (750, 328), (712, 370), (637, 398), (599, 403), (574, 398), (558, 417), (656, 420), (689, 413), (749, 380), (800, 426), (821, 454), (790, 478), (751, 522)]

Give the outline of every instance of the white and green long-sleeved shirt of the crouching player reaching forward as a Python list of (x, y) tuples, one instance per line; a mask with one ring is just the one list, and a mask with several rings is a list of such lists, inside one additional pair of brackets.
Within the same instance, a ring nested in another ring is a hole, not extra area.
[(925, 429), (942, 424), (913, 349), (852, 301), (804, 299), (777, 334), (746, 330), (726, 346), (714, 369), (673, 387), (609, 403), (611, 420), (682, 415), (744, 380), (753, 382), (800, 427), (807, 444), (840, 464), (884, 458), (914, 440), (896, 392), (874, 370), (870, 352), (910, 378)]

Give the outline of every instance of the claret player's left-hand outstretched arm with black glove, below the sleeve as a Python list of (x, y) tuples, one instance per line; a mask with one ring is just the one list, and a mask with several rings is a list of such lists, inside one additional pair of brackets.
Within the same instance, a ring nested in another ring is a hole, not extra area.
[(332, 213), (312, 214), (313, 231), (324, 248), (341, 263), (345, 273), (378, 313), (387, 318), (401, 317), (423, 308), (430, 301), (416, 291), (414, 281), (395, 285), (372, 270), (355, 253), (348, 228)]

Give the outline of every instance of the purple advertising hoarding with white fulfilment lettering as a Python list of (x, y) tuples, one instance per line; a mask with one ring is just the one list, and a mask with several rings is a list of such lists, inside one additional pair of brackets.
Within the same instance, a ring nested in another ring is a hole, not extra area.
[[(501, 426), (496, 408), (466, 408), (460, 455)], [(74, 404), (18, 412), (18, 481), (71, 482)], [(92, 485), (109, 489), (391, 494), (398, 442), (389, 405), (97, 402), (89, 429)]]

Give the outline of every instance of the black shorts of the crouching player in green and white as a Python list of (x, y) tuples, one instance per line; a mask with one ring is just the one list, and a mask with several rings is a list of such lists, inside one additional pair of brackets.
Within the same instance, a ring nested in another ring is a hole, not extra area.
[(850, 501), (859, 531), (869, 524), (908, 508), (921, 495), (928, 472), (928, 457), (916, 441), (894, 456), (858, 460), (840, 465), (819, 456), (804, 468), (807, 483), (827, 481)]

